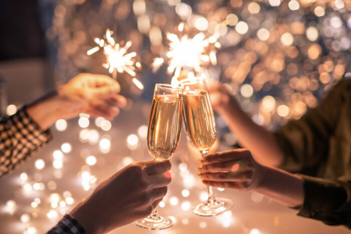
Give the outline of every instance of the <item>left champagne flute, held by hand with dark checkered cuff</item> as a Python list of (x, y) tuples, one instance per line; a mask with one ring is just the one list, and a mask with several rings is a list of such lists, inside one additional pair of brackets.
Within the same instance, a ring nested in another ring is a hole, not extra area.
[[(182, 128), (182, 89), (156, 84), (147, 130), (147, 148), (155, 160), (169, 159), (177, 150)], [(160, 216), (155, 208), (146, 218), (136, 220), (137, 226), (158, 230), (169, 228), (173, 221)]]

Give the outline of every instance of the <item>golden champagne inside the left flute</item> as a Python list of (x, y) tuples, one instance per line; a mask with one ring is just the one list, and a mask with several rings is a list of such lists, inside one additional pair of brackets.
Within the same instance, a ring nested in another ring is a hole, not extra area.
[(155, 96), (152, 100), (147, 146), (156, 159), (168, 159), (177, 150), (182, 128), (182, 98)]

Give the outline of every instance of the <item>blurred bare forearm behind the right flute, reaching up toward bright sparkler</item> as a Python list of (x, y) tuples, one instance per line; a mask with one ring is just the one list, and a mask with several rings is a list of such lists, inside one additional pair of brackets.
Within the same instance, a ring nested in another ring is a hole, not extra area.
[(283, 153), (274, 135), (255, 124), (235, 100), (217, 111), (227, 119), (230, 130), (236, 134), (240, 144), (249, 149), (258, 161), (272, 166), (281, 164)]

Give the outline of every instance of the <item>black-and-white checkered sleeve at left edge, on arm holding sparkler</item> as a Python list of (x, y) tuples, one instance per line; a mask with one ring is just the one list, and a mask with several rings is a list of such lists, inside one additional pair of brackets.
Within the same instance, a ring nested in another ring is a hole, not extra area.
[(8, 173), (52, 139), (28, 115), (26, 106), (0, 119), (0, 176)]

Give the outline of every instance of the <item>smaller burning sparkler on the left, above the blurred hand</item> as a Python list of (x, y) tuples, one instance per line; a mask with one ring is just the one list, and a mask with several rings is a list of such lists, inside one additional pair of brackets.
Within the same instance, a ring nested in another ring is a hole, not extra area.
[(108, 72), (112, 74), (114, 79), (117, 78), (117, 73), (126, 72), (133, 77), (132, 82), (139, 88), (143, 89), (141, 82), (135, 78), (135, 70), (140, 68), (141, 65), (139, 62), (135, 63), (133, 58), (136, 56), (135, 52), (127, 53), (127, 50), (130, 48), (132, 43), (130, 41), (126, 42), (123, 47), (121, 47), (115, 40), (112, 38), (113, 32), (109, 29), (106, 30), (106, 40), (95, 38), (94, 41), (97, 44), (96, 47), (87, 51), (87, 55), (92, 55), (98, 52), (103, 48), (104, 54), (106, 56), (107, 62), (102, 64), (102, 66), (108, 69)]

